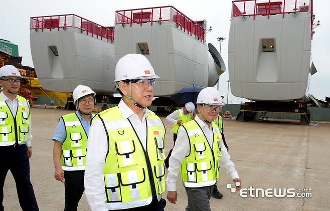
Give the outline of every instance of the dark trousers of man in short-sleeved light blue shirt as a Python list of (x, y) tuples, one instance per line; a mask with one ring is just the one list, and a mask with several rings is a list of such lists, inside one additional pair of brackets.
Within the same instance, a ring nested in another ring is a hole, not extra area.
[(64, 211), (76, 211), (84, 193), (84, 170), (64, 171), (65, 207)]

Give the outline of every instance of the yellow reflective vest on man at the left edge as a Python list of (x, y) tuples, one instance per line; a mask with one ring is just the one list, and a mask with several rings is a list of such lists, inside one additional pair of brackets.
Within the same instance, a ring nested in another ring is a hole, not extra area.
[(0, 97), (0, 146), (25, 144), (28, 141), (30, 109), (28, 101), (17, 95), (18, 107), (14, 117), (7, 103)]

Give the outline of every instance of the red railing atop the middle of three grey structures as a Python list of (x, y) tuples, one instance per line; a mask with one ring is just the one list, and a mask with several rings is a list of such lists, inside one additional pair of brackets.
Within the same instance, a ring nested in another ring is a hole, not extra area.
[(177, 28), (180, 27), (185, 33), (190, 36), (195, 36), (196, 39), (205, 43), (205, 29), (200, 22), (195, 22), (188, 18), (185, 14), (181, 13), (175, 7), (163, 6), (155, 8), (140, 8), (132, 10), (116, 11), (115, 24), (127, 24), (130, 27), (133, 24), (154, 23), (172, 21), (176, 24)]

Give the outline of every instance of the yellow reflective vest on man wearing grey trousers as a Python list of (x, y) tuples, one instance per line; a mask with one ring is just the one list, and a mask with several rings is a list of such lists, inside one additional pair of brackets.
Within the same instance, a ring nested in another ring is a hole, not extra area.
[(183, 126), (190, 142), (190, 154), (181, 164), (181, 178), (185, 187), (205, 187), (219, 178), (221, 140), (218, 126), (213, 122), (213, 145), (207, 141), (201, 127), (193, 120)]

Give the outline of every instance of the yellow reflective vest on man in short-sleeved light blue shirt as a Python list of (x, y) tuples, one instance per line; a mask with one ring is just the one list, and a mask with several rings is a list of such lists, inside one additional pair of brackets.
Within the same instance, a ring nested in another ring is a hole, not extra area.
[(76, 113), (67, 114), (63, 119), (66, 139), (62, 143), (61, 165), (66, 171), (85, 170), (87, 134)]

